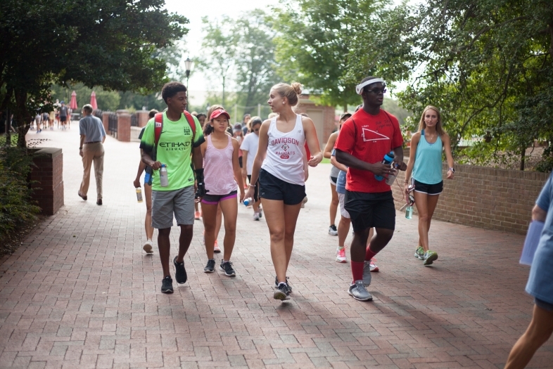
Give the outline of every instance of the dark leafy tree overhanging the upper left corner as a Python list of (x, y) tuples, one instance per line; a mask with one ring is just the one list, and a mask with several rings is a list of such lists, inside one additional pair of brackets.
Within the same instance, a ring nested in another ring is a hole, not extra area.
[(1, 1), (0, 110), (15, 113), (18, 145), (25, 146), (34, 112), (51, 110), (52, 83), (158, 89), (167, 80), (167, 65), (155, 53), (182, 38), (188, 22), (164, 5), (163, 0)]

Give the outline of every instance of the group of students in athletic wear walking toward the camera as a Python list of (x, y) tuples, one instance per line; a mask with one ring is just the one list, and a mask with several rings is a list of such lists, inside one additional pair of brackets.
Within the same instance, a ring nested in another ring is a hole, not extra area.
[[(194, 205), (198, 202), (201, 203), (205, 228), (207, 263), (204, 271), (215, 271), (216, 235), (221, 225), (219, 214), (222, 213), (225, 235), (220, 271), (226, 276), (236, 276), (231, 253), (236, 238), (238, 203), (251, 199), (254, 219), (259, 219), (262, 214), (261, 204), (267, 219), (276, 274), (273, 297), (288, 299), (292, 287), (287, 270), (295, 226), (306, 197), (307, 166), (317, 166), (323, 158), (312, 120), (293, 111), (301, 94), (300, 84), (273, 86), (268, 104), (274, 114), (265, 122), (258, 117), (250, 119), (250, 133), (246, 136), (239, 129), (229, 131), (230, 115), (222, 106), (212, 107), (201, 124), (197, 117), (185, 110), (186, 92), (186, 87), (178, 82), (163, 87), (167, 110), (152, 112), (150, 121), (141, 132), (142, 159), (134, 181), (135, 186), (140, 186), (141, 173), (146, 170), (144, 184), (148, 212), (144, 250), (152, 252), (153, 228), (158, 228), (164, 275), (161, 291), (173, 292), (169, 238), (173, 216), (181, 228), (179, 252), (172, 259), (177, 283), (186, 283), (184, 255), (193, 235), (195, 214), (197, 218)], [(345, 262), (344, 242), (350, 223), (353, 226), (354, 237), (350, 245), (352, 283), (348, 292), (362, 301), (372, 299), (366, 287), (371, 283), (370, 272), (378, 271), (374, 256), (388, 244), (395, 229), (392, 192), (386, 181), (379, 181), (378, 176), (395, 175), (398, 169), (407, 169), (408, 174), (413, 172), (416, 204), (421, 218), (424, 218), (419, 224), (417, 255), (424, 258), (425, 254), (437, 257), (435, 252), (428, 250), (428, 228), (441, 191), (442, 145), (451, 166), (448, 178), (452, 178), (454, 171), (449, 138), (441, 128), (438, 109), (432, 107), (423, 113), (421, 125), (424, 129), (415, 134), (418, 139), (413, 141), (418, 143), (423, 137), (426, 145), (419, 144), (419, 150), (412, 147), (409, 166), (403, 162), (403, 138), (398, 119), (380, 108), (385, 92), (383, 79), (364, 79), (357, 86), (363, 104), (353, 115), (341, 117), (341, 129), (331, 136), (330, 146), (327, 145), (325, 150), (331, 151), (331, 162), (338, 169), (337, 173), (331, 174), (331, 183), (337, 192), (333, 199), (338, 200), (337, 204), (333, 201), (333, 205), (339, 205), (341, 213), (338, 228), (331, 224), (329, 233), (338, 235), (336, 261)], [(383, 164), (383, 156), (390, 151), (395, 154), (393, 165)], [(306, 152), (309, 152), (309, 157)], [(437, 169), (419, 169), (427, 165), (437, 166), (438, 161)], [(438, 172), (439, 183), (436, 182)], [(249, 184), (246, 184), (244, 174)], [(428, 255), (426, 259), (436, 259)]]

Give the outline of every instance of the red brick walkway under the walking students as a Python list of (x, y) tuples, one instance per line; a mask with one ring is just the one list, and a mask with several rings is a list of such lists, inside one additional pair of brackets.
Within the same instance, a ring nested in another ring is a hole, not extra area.
[[(1, 368), (502, 368), (530, 320), (528, 268), (518, 264), (523, 236), (436, 221), (431, 244), (440, 259), (425, 268), (413, 257), (417, 219), (399, 213), (369, 287), (374, 302), (352, 299), (349, 265), (333, 261), (337, 238), (326, 233), (330, 164), (307, 182), (291, 302), (272, 299), (265, 219), (252, 221), (244, 207), (236, 278), (203, 273), (197, 221), (185, 258), (189, 281), (161, 294), (159, 257), (141, 250), (146, 207), (132, 187), (137, 144), (106, 141), (98, 207), (94, 179), (91, 200), (77, 197), (77, 124), (29, 136), (63, 148), (65, 207), (0, 261)], [(529, 368), (552, 361), (549, 340)]]

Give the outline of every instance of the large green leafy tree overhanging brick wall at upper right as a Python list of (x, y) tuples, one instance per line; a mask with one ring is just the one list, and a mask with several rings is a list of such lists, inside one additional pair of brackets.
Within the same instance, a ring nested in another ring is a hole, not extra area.
[(524, 169), (528, 145), (539, 138), (553, 143), (553, 7), (546, 1), (401, 5), (358, 36), (350, 56), (362, 58), (350, 58), (348, 77), (374, 65), (393, 67), (396, 80), (409, 81), (398, 93), (407, 110), (438, 106), (455, 145), (482, 138), (455, 150), (459, 159), (517, 160)]

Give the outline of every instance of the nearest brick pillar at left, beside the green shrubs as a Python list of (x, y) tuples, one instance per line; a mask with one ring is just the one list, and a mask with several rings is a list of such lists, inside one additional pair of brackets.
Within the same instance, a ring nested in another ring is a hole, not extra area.
[(63, 206), (61, 148), (41, 148), (34, 153), (32, 161), (35, 165), (31, 170), (32, 199), (38, 202), (42, 214), (56, 214)]

